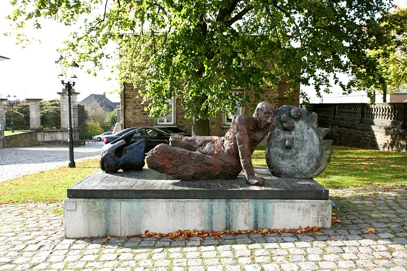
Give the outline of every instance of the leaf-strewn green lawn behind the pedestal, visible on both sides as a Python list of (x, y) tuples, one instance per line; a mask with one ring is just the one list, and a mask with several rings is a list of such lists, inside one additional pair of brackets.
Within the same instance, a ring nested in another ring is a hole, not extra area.
[[(390, 153), (333, 146), (331, 163), (315, 179), (327, 188), (380, 186), (407, 183), (407, 153)], [(257, 147), (254, 166), (267, 166), (265, 147)], [(99, 169), (99, 159), (28, 174), (0, 183), (0, 203), (55, 202), (66, 197), (67, 188)]]

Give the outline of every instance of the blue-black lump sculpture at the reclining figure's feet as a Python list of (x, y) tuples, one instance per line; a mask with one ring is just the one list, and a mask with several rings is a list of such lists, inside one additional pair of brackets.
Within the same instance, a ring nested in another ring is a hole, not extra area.
[(141, 170), (144, 166), (146, 141), (142, 138), (130, 143), (130, 140), (135, 133), (142, 130), (142, 128), (134, 129), (104, 145), (99, 161), (100, 168), (106, 172), (116, 172), (119, 169), (124, 171)]

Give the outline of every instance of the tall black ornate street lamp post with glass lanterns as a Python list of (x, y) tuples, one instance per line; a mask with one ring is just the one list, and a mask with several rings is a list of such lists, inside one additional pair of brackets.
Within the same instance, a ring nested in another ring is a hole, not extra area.
[(64, 85), (67, 92), (68, 98), (68, 147), (69, 147), (69, 167), (75, 167), (75, 161), (73, 158), (73, 138), (72, 138), (72, 112), (71, 112), (71, 93), (72, 88), (75, 85), (76, 77), (79, 65), (75, 62), (72, 63), (69, 70), (66, 70), (62, 65), (64, 57), (62, 55), (60, 58), (55, 61), (56, 69), (58, 72), (58, 78), (61, 80), (61, 83)]

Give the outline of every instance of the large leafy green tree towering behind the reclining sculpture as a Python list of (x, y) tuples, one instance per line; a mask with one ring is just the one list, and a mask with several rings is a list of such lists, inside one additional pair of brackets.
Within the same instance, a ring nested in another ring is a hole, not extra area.
[[(314, 84), (374, 65), (367, 29), (388, 12), (382, 0), (13, 0), (12, 19), (83, 21), (66, 44), (76, 62), (103, 63), (104, 47), (121, 47), (120, 79), (133, 83), (152, 116), (181, 99), (193, 132), (209, 134), (209, 118), (258, 99), (262, 85)], [(341, 84), (346, 90), (345, 85)], [(228, 95), (231, 89), (250, 95)], [(292, 89), (287, 89), (289, 95)]]

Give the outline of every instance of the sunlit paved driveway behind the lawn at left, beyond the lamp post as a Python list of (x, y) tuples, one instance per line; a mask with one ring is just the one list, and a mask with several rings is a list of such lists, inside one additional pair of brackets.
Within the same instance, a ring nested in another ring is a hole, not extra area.
[[(74, 147), (74, 160), (100, 156), (103, 143)], [(0, 182), (17, 176), (68, 165), (68, 146), (0, 148)]]

